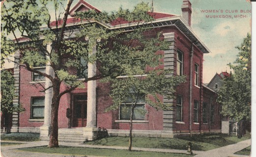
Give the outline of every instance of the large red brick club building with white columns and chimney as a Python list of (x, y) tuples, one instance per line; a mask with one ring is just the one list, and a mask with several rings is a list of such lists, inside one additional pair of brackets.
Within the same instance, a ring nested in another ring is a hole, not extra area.
[[(88, 9), (100, 12), (80, 0), (71, 9), (70, 15)], [(183, 134), (221, 131), (219, 105), (215, 103), (215, 98), (211, 97), (214, 91), (202, 82), (203, 54), (209, 53), (209, 50), (191, 29), (192, 7), (189, 0), (183, 0), (181, 10), (182, 16), (149, 12), (155, 19), (154, 26), (161, 29), (164, 38), (170, 42), (170, 50), (163, 51), (163, 68), (172, 69), (174, 75), (185, 75), (187, 78), (185, 83), (177, 87), (176, 99), (163, 99), (164, 103), (172, 103), (175, 106), (173, 111), (156, 110), (141, 102), (139, 106), (144, 107), (146, 113), (137, 113), (135, 116), (138, 117), (133, 121), (133, 132), (136, 136), (172, 138)], [(55, 25), (55, 22), (51, 23), (51, 26)], [(74, 30), (79, 28), (79, 25), (81, 23), (72, 17), (67, 21), (67, 26)], [(114, 22), (104, 26), (112, 29), (119, 27)], [(122, 27), (131, 28), (126, 23), (123, 23)], [(18, 52), (15, 55), (18, 57)], [(49, 67), (44, 65), (35, 68), (52, 73)], [(90, 69), (88, 73), (89, 71)], [(38, 132), (42, 139), (48, 139), (51, 91), (42, 93), (32, 84), (49, 82), (17, 66), (14, 68), (14, 77), (16, 82), (19, 82), (16, 88), (19, 97), (15, 97), (14, 102), (23, 104), (26, 111), (14, 113), (18, 119), (13, 119), (12, 132)], [(62, 96), (58, 111), (59, 140), (63, 140), (64, 136), (66, 141), (92, 140), (95, 138), (95, 130), (86, 126), (96, 129), (104, 127), (110, 135), (128, 135), (129, 120), (120, 112), (121, 107), (119, 110), (104, 112), (112, 103), (109, 84), (98, 80), (95, 82), (96, 85), (85, 83), (84, 89), (75, 89)], [(64, 88), (64, 85), (62, 87)], [(95, 90), (94, 101), (90, 102), (87, 97)], [(95, 109), (96, 113), (91, 109)], [(79, 137), (67, 138), (67, 134), (76, 134)]]

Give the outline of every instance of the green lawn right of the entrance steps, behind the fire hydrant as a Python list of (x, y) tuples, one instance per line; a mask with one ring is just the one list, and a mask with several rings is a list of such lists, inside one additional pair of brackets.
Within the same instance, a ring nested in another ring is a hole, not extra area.
[[(133, 137), (133, 147), (180, 149), (186, 150), (188, 142), (192, 143), (192, 150), (208, 151), (211, 149), (234, 144), (249, 137), (238, 139), (235, 136), (208, 135), (181, 138)], [(85, 144), (106, 146), (128, 146), (129, 137), (112, 136), (99, 140), (88, 141)]]

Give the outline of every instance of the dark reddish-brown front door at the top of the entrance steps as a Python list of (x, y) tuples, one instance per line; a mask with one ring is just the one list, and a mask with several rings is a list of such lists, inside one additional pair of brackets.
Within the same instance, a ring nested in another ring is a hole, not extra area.
[(73, 96), (73, 127), (85, 127), (87, 118), (87, 95)]

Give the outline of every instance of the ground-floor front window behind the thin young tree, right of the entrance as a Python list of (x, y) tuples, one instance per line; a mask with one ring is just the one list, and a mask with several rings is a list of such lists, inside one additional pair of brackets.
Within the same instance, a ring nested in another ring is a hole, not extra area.
[[(131, 93), (132, 95), (133, 93)], [(119, 108), (119, 120), (130, 120), (132, 105), (135, 99), (133, 96), (126, 98), (125, 102), (120, 105)], [(139, 100), (134, 108), (133, 120), (145, 119), (145, 96), (139, 95)]]

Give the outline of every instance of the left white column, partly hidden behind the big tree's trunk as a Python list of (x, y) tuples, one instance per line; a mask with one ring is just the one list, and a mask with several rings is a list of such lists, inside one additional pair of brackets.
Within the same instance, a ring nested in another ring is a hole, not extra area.
[[(50, 53), (52, 49), (51, 44), (47, 45), (47, 51)], [(47, 56), (50, 59), (50, 56)], [(45, 73), (54, 76), (53, 68), (50, 66), (50, 62), (47, 62)], [(45, 79), (45, 89), (52, 86), (52, 81), (49, 78)], [(51, 126), (51, 105), (53, 98), (53, 88), (49, 88), (45, 91), (45, 103), (44, 103), (44, 125), (40, 127), (40, 136), (48, 136)]]

